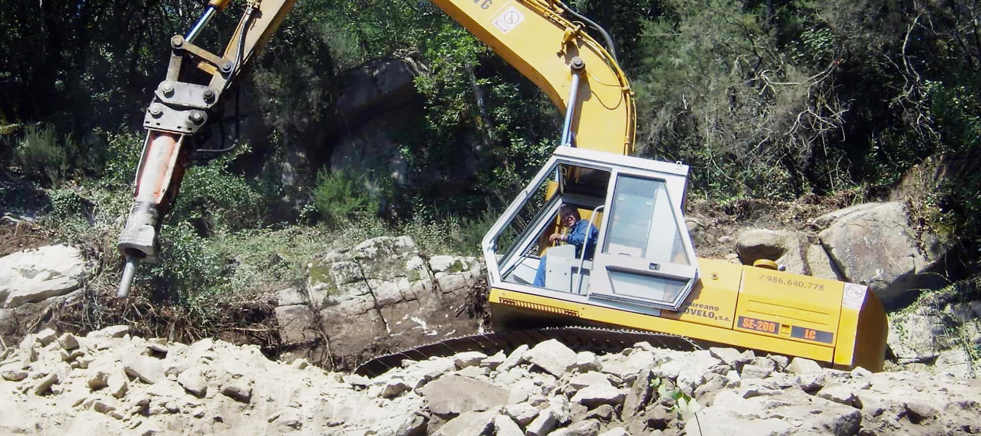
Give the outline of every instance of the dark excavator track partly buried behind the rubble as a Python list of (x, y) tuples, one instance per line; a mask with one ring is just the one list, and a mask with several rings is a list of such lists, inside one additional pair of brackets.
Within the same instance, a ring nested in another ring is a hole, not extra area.
[(488, 356), (503, 351), (510, 353), (522, 344), (536, 344), (556, 339), (573, 351), (590, 351), (597, 355), (619, 353), (638, 342), (653, 347), (679, 351), (701, 350), (695, 341), (684, 336), (640, 330), (620, 330), (599, 327), (566, 326), (529, 330), (499, 331), (459, 336), (431, 344), (379, 356), (358, 365), (354, 372), (365, 376), (378, 376), (388, 369), (401, 367), (402, 361), (425, 361), (434, 357), (448, 357), (465, 351), (479, 351)]

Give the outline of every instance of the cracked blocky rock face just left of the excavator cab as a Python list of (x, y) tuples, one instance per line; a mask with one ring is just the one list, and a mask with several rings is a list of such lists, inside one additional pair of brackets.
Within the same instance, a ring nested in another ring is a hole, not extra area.
[[(477, 259), (424, 259), (412, 238), (380, 237), (319, 256), (307, 270), (304, 291), (281, 293), (280, 334), (301, 346), (323, 335), (342, 365), (479, 328), (460, 311), (484, 275)], [(320, 351), (294, 355), (317, 359)]]

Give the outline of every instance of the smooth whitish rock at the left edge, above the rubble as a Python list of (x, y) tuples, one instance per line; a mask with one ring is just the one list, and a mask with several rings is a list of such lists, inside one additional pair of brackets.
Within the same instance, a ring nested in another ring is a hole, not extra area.
[(78, 289), (85, 276), (81, 251), (49, 245), (0, 258), (0, 306), (16, 308)]

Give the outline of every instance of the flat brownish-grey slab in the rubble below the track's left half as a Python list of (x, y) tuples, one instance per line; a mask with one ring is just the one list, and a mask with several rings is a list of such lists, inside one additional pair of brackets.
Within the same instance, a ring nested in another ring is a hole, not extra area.
[[(489, 411), (507, 403), (508, 391), (488, 382), (446, 375), (421, 389), (430, 411), (440, 416)], [(493, 416), (490, 416), (492, 418)]]

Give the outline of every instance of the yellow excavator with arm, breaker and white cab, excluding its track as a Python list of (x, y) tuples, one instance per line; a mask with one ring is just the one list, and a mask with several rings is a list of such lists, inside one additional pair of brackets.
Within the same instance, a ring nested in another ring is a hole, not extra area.
[[(249, 0), (222, 55), (195, 45), (229, 2), (211, 0), (186, 35), (171, 38), (166, 78), (144, 117), (134, 201), (119, 240), (126, 258), (120, 297), (129, 294), (138, 263), (159, 255), (157, 232), (177, 197), (195, 134), (294, 0)], [(744, 266), (696, 257), (683, 218), (690, 169), (631, 156), (634, 96), (601, 27), (558, 0), (433, 3), (565, 114), (552, 157), (482, 243), (495, 330), (641, 330), (882, 370), (886, 316), (866, 286), (786, 272), (766, 260)], [(549, 247), (569, 239), (551, 236), (561, 234), (563, 211), (594, 230), (579, 245)]]

